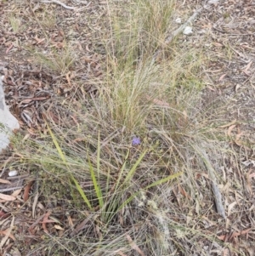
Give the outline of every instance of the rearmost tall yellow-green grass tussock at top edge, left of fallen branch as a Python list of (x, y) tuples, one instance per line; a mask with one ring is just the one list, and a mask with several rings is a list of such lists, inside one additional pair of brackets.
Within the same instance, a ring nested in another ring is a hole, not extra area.
[(163, 46), (171, 24), (174, 1), (138, 1), (128, 6), (120, 3), (118, 15), (111, 16), (113, 24), (112, 50), (118, 60), (137, 61)]

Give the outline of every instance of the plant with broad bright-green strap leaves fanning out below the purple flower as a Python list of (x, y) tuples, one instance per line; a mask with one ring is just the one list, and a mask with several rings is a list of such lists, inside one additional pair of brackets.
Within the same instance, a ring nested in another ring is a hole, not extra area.
[[(132, 202), (133, 198), (140, 193), (140, 191), (137, 191), (137, 192), (133, 193), (133, 195), (129, 196), (126, 200), (124, 200), (124, 201), (122, 200), (122, 198), (123, 198), (122, 193), (126, 193), (127, 189), (130, 190), (130, 188), (132, 187), (131, 184), (132, 184), (133, 176), (137, 172), (137, 168), (138, 168), (139, 164), (143, 161), (144, 156), (147, 153), (146, 150), (141, 154), (141, 156), (139, 156), (139, 159), (133, 164), (132, 168), (127, 170), (127, 157), (129, 156), (129, 152), (130, 152), (128, 150), (127, 156), (125, 157), (125, 160), (122, 164), (120, 173), (118, 174), (118, 178), (113, 185), (114, 189), (111, 188), (111, 177), (108, 177), (110, 179), (106, 179), (106, 185), (105, 185), (105, 187), (107, 189), (105, 191), (103, 191), (100, 187), (100, 180), (101, 180), (101, 177), (100, 177), (100, 174), (101, 174), (100, 142), (98, 140), (96, 169), (93, 167), (93, 164), (90, 162), (90, 159), (88, 157), (89, 173), (90, 173), (91, 180), (94, 185), (94, 191), (95, 191), (95, 195), (93, 197), (96, 198), (96, 200), (98, 202), (94, 205), (94, 200), (91, 201), (88, 199), (88, 196), (86, 196), (84, 191), (82, 191), (82, 187), (81, 187), (81, 185), (79, 185), (74, 174), (71, 173), (69, 163), (67, 162), (67, 160), (65, 158), (65, 154), (61, 150), (59, 143), (58, 143), (57, 139), (55, 138), (54, 134), (52, 133), (51, 129), (48, 128), (48, 131), (49, 131), (51, 138), (54, 141), (54, 145), (59, 153), (61, 160), (63, 161), (66, 168), (69, 170), (68, 173), (70, 175), (71, 182), (73, 182), (75, 184), (77, 191), (82, 196), (82, 199), (88, 206), (89, 210), (93, 211), (95, 208), (97, 208), (97, 206), (99, 206), (99, 213), (101, 216), (101, 219), (100, 219), (101, 221), (103, 221), (105, 223), (109, 223), (111, 221), (111, 219), (116, 215), (116, 213), (121, 211), (122, 208), (126, 207), (127, 204), (129, 202)], [(150, 185), (146, 185), (144, 188), (142, 188), (142, 190), (146, 191), (156, 185), (161, 185), (163, 183), (168, 182), (171, 179), (178, 178), (178, 176), (180, 174), (181, 173), (173, 174), (173, 175), (168, 176), (167, 178), (156, 180), (155, 182), (152, 182)], [(122, 193), (120, 193), (120, 191), (122, 191)]]

